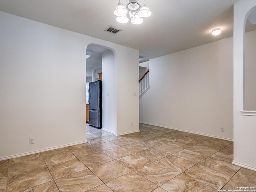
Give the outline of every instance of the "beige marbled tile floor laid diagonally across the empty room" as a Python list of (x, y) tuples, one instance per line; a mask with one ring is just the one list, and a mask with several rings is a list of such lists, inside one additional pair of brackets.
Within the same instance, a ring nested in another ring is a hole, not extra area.
[(87, 126), (86, 144), (0, 161), (0, 192), (216, 192), (256, 187), (233, 165), (233, 143), (158, 126), (114, 136)]

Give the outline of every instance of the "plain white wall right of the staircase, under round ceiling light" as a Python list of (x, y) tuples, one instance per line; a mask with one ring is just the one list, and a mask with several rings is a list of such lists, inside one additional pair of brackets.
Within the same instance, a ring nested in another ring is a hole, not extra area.
[(232, 40), (150, 60), (140, 122), (232, 140)]

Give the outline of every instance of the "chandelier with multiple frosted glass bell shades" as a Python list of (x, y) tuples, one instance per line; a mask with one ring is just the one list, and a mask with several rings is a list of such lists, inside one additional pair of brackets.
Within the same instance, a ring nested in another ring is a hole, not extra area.
[(151, 15), (151, 11), (146, 4), (146, 0), (144, 0), (144, 6), (142, 8), (138, 1), (129, 0), (128, 3), (126, 1), (126, 5), (122, 5), (119, 0), (118, 6), (114, 11), (114, 14), (116, 15), (116, 20), (120, 23), (127, 23), (129, 19), (126, 14), (129, 13), (132, 24), (141, 24), (143, 22), (142, 17), (149, 17)]

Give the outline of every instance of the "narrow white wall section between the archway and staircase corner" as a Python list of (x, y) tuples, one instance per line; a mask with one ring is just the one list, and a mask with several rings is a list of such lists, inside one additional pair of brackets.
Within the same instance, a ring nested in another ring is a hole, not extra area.
[(117, 135), (122, 135), (139, 131), (139, 52), (124, 47), (119, 51), (123, 54), (115, 66), (116, 126)]

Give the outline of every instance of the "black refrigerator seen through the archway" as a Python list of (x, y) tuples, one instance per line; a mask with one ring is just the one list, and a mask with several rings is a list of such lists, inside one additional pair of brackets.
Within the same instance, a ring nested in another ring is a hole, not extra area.
[(102, 81), (89, 83), (89, 124), (97, 129), (102, 128)]

